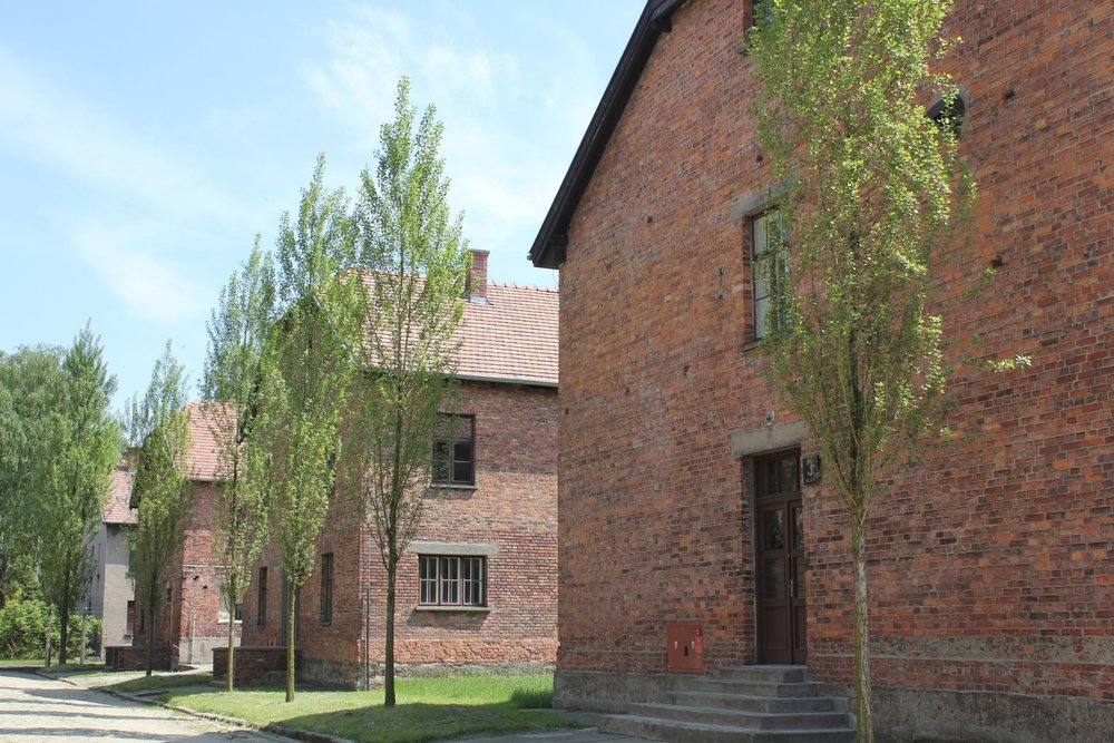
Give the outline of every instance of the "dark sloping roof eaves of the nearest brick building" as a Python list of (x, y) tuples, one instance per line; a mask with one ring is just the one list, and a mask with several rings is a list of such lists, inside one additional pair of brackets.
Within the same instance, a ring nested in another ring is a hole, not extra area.
[(638, 18), (634, 33), (627, 41), (623, 56), (612, 74), (612, 79), (604, 90), (596, 113), (592, 116), (587, 131), (580, 139), (573, 163), (561, 180), (560, 188), (554, 197), (549, 212), (546, 214), (538, 236), (530, 247), (529, 258), (539, 268), (558, 268), (565, 262), (565, 248), (568, 245), (568, 225), (573, 219), (577, 205), (588, 182), (603, 157), (615, 127), (618, 126), (623, 111), (631, 95), (642, 76), (649, 55), (657, 43), (657, 37), (672, 30), (673, 12), (686, 0), (647, 0), (646, 7)]

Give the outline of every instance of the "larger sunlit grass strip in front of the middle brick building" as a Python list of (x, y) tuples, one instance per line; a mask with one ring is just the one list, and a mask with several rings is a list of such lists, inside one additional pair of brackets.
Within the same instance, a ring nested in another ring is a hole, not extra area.
[(286, 704), (282, 690), (170, 691), (160, 696), (179, 706), (238, 717), (264, 726), (299, 730), (375, 743), (418, 743), (462, 735), (579, 727), (566, 717), (532, 708), (549, 706), (553, 675), (400, 678), (398, 706), (383, 707), (383, 691), (299, 691)]

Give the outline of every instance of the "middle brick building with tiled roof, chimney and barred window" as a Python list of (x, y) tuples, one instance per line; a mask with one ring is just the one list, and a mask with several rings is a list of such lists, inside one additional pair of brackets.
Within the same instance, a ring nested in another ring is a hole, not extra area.
[[(558, 294), (489, 284), (481, 251), (469, 286), (458, 330), (461, 417), (452, 441), (434, 442), (436, 487), (399, 566), (400, 673), (551, 665), (556, 655)], [(370, 531), (336, 498), (300, 592), (300, 678), (362, 686), (379, 675), (385, 580)], [(285, 645), (285, 596), (272, 553), (244, 600), (237, 681), (267, 663), (284, 667), (253, 648)]]

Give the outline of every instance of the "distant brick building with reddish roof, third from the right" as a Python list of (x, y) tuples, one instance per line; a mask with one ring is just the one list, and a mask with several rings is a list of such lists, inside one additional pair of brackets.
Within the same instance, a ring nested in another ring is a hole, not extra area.
[[(214, 647), (227, 646), (228, 622), (241, 624), (237, 610), (229, 612), (221, 596), (217, 580), (222, 564), (213, 554), (213, 507), (221, 482), (221, 444), (216, 432), (222, 421), (231, 420), (223, 410), (221, 403), (212, 402), (186, 407), (189, 423), (186, 471), (193, 482), (194, 502), (159, 613), (156, 647), (165, 649), (158, 653), (158, 665), (209, 663)], [(144, 622), (141, 609), (136, 609), (134, 637), (127, 638), (135, 649), (111, 656), (110, 664), (133, 667), (146, 663), (146, 656), (139, 652), (147, 641)]]

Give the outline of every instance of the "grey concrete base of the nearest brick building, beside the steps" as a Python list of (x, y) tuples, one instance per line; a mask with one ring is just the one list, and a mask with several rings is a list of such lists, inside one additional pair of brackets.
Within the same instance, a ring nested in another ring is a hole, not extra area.
[[(554, 706), (580, 712), (620, 713), (631, 705), (659, 702), (684, 676), (558, 671)], [(851, 688), (825, 684), (847, 696)], [(1107, 743), (1114, 730), (1114, 701), (1075, 696), (874, 690), (874, 731), (879, 743)]]

